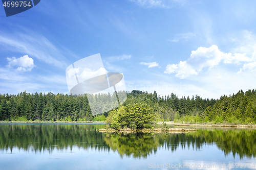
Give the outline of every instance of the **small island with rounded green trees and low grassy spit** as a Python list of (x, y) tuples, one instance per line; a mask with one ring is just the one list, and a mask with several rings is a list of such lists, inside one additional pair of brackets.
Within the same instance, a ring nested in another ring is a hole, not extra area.
[(110, 112), (106, 118), (105, 129), (100, 132), (195, 132), (196, 129), (167, 128), (163, 123), (163, 128), (155, 128), (157, 115), (152, 107), (146, 103), (134, 103), (121, 106)]

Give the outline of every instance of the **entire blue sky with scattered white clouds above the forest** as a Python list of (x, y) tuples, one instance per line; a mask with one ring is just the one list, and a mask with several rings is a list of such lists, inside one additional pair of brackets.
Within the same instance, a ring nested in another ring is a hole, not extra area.
[(0, 8), (0, 93), (69, 93), (66, 68), (100, 53), (133, 89), (218, 99), (256, 88), (256, 1), (50, 1)]

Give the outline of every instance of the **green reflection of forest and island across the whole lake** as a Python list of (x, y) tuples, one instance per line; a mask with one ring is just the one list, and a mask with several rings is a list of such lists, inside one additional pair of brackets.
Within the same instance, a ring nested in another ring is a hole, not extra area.
[(200, 150), (214, 144), (225, 155), (256, 157), (254, 129), (198, 129), (189, 133), (102, 133), (105, 125), (12, 124), (0, 125), (0, 150), (52, 152), (57, 150), (94, 149), (117, 151), (123, 156), (146, 158), (159, 148), (175, 152), (179, 148)]

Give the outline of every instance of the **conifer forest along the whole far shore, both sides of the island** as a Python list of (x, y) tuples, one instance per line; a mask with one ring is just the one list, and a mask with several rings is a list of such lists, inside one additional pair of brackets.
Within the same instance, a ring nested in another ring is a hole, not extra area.
[[(95, 101), (111, 99), (113, 94), (95, 95)], [(110, 101), (111, 102), (111, 101)], [(108, 102), (104, 102), (108, 103)], [(157, 121), (189, 123), (256, 123), (256, 91), (240, 90), (220, 99), (179, 98), (176, 94), (160, 97), (156, 91), (127, 92), (123, 106), (144, 103), (150, 106)], [(101, 105), (99, 107), (108, 107)], [(99, 109), (100, 110), (100, 109)], [(53, 93), (0, 94), (0, 120), (4, 121), (103, 121), (110, 111), (93, 116), (86, 96)]]

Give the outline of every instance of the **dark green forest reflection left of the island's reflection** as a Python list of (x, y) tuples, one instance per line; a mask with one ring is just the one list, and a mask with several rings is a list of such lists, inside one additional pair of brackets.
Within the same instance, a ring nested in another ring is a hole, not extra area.
[(0, 125), (0, 149), (18, 148), (34, 152), (63, 150), (76, 146), (78, 148), (95, 148), (109, 150), (96, 132), (105, 125)]

